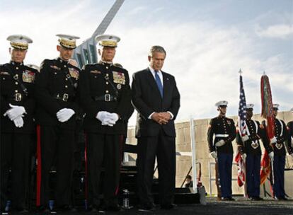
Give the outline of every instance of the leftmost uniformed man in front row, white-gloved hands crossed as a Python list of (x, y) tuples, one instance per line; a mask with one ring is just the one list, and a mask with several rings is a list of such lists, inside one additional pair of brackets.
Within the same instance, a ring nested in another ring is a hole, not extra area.
[[(1, 212), (8, 200), (8, 184), (11, 185), (11, 206), (28, 212), (30, 156), (35, 124), (33, 98), (37, 70), (25, 66), (23, 60), (32, 43), (24, 35), (11, 35), (11, 62), (0, 65), (1, 86)], [(11, 181), (8, 182), (9, 169)]]

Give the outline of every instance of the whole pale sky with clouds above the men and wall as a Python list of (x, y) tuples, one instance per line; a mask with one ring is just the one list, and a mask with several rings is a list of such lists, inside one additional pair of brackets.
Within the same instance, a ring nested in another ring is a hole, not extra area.
[[(6, 37), (11, 34), (34, 40), (25, 63), (57, 57), (54, 35), (79, 35), (81, 43), (113, 3), (0, 0), (0, 63), (9, 60)], [(148, 66), (151, 45), (166, 48), (163, 71), (176, 77), (181, 94), (178, 120), (214, 117), (218, 100), (228, 100), (228, 115), (237, 115), (240, 68), (255, 112), (260, 112), (263, 71), (270, 77), (273, 102), (280, 110), (293, 107), (292, 0), (125, 0), (106, 33), (121, 37), (115, 62), (130, 76)]]

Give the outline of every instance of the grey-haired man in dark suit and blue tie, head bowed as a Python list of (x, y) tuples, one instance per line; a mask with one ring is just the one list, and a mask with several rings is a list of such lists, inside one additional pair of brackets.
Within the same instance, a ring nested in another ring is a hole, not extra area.
[(161, 71), (166, 51), (153, 46), (149, 67), (133, 74), (132, 104), (137, 110), (137, 168), (141, 209), (154, 209), (151, 185), (154, 162), (159, 168), (159, 194), (162, 209), (173, 209), (176, 149), (174, 120), (180, 107), (180, 94), (171, 74)]

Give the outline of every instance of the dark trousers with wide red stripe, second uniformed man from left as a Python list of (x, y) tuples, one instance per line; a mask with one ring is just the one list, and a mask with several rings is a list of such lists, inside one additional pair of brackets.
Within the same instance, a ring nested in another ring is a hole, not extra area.
[[(41, 168), (40, 178), (40, 204), (47, 207), (49, 199), (56, 199), (58, 207), (70, 205), (71, 199), (71, 175), (74, 158), (74, 130), (61, 127), (38, 125), (40, 136)], [(50, 170), (55, 164), (57, 178), (54, 197), (50, 196)]]

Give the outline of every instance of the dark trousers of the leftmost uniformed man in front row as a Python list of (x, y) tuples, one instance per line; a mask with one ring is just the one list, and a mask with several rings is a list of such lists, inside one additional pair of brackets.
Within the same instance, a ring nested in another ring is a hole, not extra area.
[[(28, 207), (32, 134), (1, 133), (1, 211), (11, 199), (12, 207)], [(9, 170), (11, 169), (11, 180)], [(11, 197), (8, 182), (11, 181)]]

